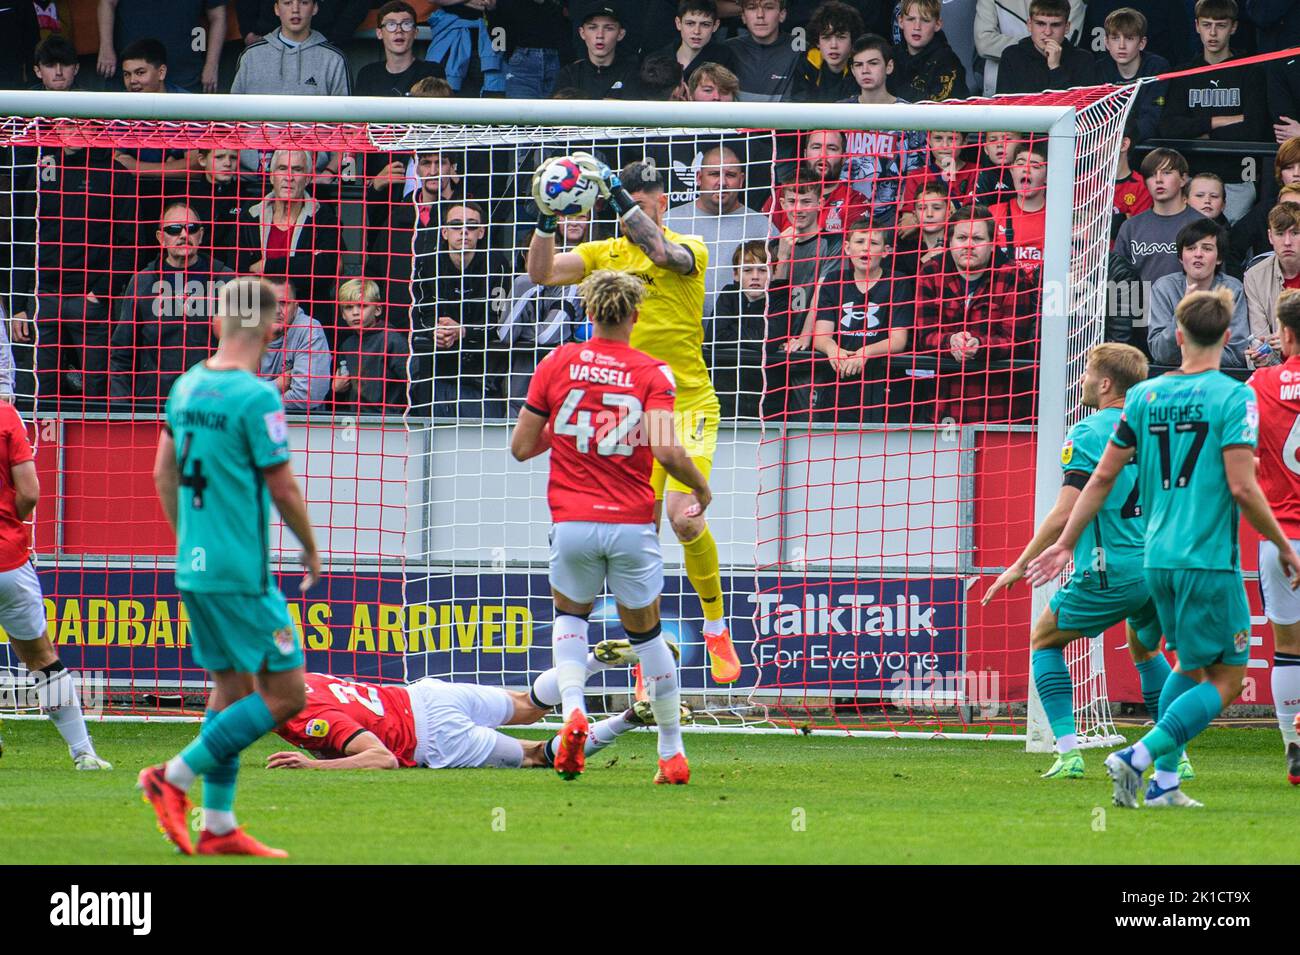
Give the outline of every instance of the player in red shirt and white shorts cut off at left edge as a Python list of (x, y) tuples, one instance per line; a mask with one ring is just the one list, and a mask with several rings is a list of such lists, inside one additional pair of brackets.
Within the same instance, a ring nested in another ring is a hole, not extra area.
[[(86, 730), (77, 682), (55, 652), (46, 631), (46, 604), (31, 565), (27, 517), (40, 498), (36, 463), (27, 429), (8, 401), (0, 401), (0, 626), (9, 646), (32, 674), (42, 712), (68, 743), (78, 769), (112, 769), (99, 758)], [(0, 754), (4, 741), (0, 741)]]

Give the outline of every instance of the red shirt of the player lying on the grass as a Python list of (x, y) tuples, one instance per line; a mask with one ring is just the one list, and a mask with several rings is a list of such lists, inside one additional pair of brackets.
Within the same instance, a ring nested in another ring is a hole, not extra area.
[(402, 683), (351, 683), (328, 673), (307, 674), (307, 706), (276, 729), (294, 746), (321, 759), (339, 759), (361, 733), (373, 733), (398, 758), (415, 765), (415, 716)]

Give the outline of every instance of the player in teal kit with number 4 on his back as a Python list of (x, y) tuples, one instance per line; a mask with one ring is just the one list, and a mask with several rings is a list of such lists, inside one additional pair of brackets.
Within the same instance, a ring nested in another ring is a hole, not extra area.
[(303, 651), (270, 577), (272, 502), (303, 546), (303, 590), (320, 577), (285, 408), (277, 388), (257, 377), (277, 304), (261, 279), (221, 290), (217, 353), (172, 387), (153, 464), (177, 534), (176, 583), (190, 613), (194, 657), (213, 685), (198, 739), (139, 777), (160, 828), (186, 855), (195, 852), (186, 791), (200, 776), (200, 855), (286, 855), (239, 829), (233, 812), (239, 754), (306, 702)]

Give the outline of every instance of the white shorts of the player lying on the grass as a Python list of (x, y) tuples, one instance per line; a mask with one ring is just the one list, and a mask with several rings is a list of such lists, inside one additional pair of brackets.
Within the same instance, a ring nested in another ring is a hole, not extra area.
[(515, 715), (515, 700), (500, 687), (426, 677), (411, 683), (407, 693), (415, 716), (416, 765), (429, 769), (519, 765), (494, 759), (503, 750), (523, 752), (517, 739), (495, 732)]

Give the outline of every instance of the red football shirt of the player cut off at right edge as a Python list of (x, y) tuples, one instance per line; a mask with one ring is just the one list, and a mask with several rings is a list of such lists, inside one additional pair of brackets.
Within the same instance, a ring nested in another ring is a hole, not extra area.
[(1300, 357), (1258, 368), (1247, 382), (1260, 409), (1260, 487), (1283, 533), (1300, 539)]

